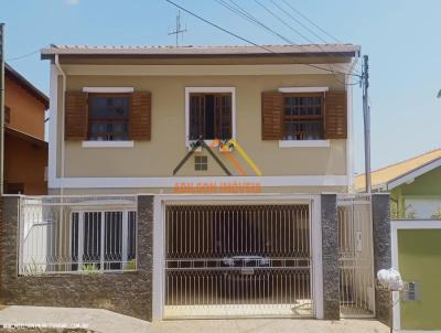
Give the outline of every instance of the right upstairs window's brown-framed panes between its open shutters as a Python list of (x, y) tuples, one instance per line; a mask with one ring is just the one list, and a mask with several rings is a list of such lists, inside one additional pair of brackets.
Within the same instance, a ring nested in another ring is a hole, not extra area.
[(283, 140), (322, 140), (323, 95), (283, 94)]

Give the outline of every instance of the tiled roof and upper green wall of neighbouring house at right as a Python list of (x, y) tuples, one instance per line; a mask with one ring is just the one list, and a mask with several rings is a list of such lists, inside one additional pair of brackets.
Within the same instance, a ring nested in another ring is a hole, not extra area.
[[(356, 176), (355, 189), (364, 183), (364, 174)], [(441, 149), (374, 171), (372, 185), (390, 193), (392, 217), (441, 218)]]

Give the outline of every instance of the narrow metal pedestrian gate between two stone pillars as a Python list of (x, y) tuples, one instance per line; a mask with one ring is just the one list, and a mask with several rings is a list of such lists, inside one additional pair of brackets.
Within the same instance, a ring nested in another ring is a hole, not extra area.
[(370, 195), (338, 195), (340, 309), (342, 316), (375, 314)]

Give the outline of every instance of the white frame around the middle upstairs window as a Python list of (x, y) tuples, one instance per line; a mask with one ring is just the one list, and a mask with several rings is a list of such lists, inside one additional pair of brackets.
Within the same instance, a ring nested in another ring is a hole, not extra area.
[[(236, 139), (236, 87), (185, 87), (185, 147), (190, 148), (190, 94), (229, 93), (232, 94), (232, 139)], [(205, 140), (207, 144), (211, 140)]]

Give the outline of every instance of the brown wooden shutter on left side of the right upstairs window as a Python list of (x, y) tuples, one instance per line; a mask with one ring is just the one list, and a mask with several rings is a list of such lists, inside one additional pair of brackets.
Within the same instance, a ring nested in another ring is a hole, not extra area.
[(261, 97), (262, 140), (281, 140), (283, 136), (283, 95), (279, 92), (263, 92)]

